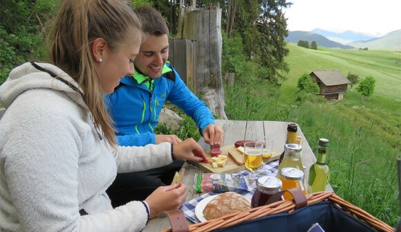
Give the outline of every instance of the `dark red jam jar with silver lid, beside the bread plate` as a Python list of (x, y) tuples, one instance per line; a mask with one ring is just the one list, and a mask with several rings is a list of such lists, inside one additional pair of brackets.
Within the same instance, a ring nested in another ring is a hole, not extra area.
[(280, 191), (281, 185), (281, 180), (276, 177), (259, 177), (257, 179), (257, 190), (252, 196), (251, 207), (264, 206), (274, 193)]

